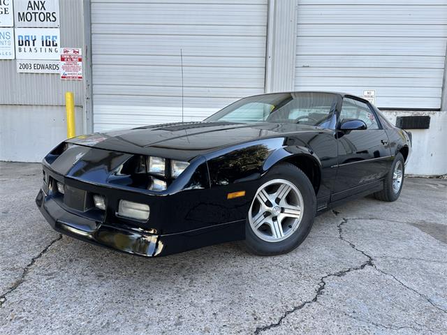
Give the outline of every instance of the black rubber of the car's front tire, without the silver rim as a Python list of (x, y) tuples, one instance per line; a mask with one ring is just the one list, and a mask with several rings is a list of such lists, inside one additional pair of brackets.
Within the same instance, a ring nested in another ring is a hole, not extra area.
[[(292, 251), (304, 241), (309, 234), (314, 223), (316, 213), (316, 198), (312, 183), (302, 170), (290, 163), (281, 163), (274, 166), (268, 174), (265, 175), (260, 185), (273, 179), (285, 179), (298, 188), (302, 195), (303, 210), (298, 228), (289, 237), (282, 241), (265, 241), (259, 238), (251, 229), (249, 219), (245, 224), (244, 241), (247, 249), (256, 255), (270, 256), (281, 255)], [(255, 195), (256, 196), (256, 195)]]

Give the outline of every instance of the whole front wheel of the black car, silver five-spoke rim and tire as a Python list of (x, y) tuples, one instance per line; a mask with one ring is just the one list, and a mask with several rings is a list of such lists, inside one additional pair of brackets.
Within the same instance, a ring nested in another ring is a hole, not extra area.
[(302, 170), (281, 163), (263, 178), (251, 202), (245, 245), (256, 255), (280, 255), (299, 246), (316, 212), (314, 187)]

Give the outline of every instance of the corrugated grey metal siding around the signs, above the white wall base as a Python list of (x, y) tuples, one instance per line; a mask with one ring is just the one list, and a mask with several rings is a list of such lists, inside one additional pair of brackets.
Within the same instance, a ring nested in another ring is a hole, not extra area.
[[(84, 45), (82, 1), (60, 1), (62, 47)], [(84, 51), (84, 50), (82, 50)], [(0, 60), (1, 105), (64, 105), (64, 93), (75, 93), (75, 104), (82, 106), (82, 81), (64, 80), (57, 74), (17, 73), (15, 60)]]

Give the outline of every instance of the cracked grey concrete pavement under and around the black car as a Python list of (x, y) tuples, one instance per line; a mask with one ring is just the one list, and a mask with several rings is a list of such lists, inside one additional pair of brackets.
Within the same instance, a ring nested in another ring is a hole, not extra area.
[(287, 255), (146, 259), (61, 237), (38, 164), (0, 162), (0, 334), (447, 334), (447, 180), (315, 220)]

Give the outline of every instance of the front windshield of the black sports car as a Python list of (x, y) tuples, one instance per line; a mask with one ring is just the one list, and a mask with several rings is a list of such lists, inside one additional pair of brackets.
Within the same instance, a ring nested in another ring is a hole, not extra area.
[(280, 122), (325, 128), (330, 123), (337, 95), (297, 92), (251, 96), (223, 108), (205, 121)]

